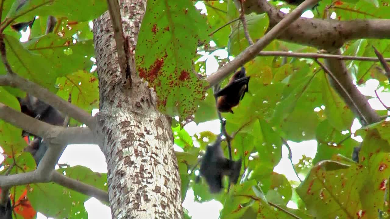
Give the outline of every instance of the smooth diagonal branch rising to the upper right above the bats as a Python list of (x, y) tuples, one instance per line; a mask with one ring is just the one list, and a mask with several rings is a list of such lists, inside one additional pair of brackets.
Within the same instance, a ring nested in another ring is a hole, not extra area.
[(287, 14), (284, 19), (282, 19), (277, 25), (269, 30), (269, 32), (261, 39), (259, 39), (255, 44), (248, 46), (248, 48), (240, 53), (234, 60), (228, 62), (226, 65), (218, 69), (218, 71), (207, 77), (206, 80), (209, 83), (209, 86), (212, 87), (216, 85), (224, 78), (229, 76), (229, 74), (238, 69), (238, 67), (244, 65), (246, 62), (249, 62), (254, 57), (256, 57), (264, 47), (266, 47), (273, 39), (278, 37), (278, 35), (280, 35), (291, 23), (293, 23), (293, 21), (300, 18), (303, 11), (305, 11), (307, 8), (313, 7), (315, 4), (317, 4), (318, 1), (319, 0), (305, 0), (291, 13)]

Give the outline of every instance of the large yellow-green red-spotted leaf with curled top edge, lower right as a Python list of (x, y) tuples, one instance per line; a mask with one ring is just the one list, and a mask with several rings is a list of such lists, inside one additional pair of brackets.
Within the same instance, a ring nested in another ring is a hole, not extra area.
[(356, 218), (360, 210), (367, 212), (362, 208), (359, 194), (367, 173), (367, 168), (361, 165), (321, 161), (296, 192), (305, 202), (308, 213), (316, 218)]

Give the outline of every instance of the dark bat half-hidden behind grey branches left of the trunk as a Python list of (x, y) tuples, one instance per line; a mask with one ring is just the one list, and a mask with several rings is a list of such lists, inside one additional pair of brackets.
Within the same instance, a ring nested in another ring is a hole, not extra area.
[[(62, 126), (64, 124), (65, 117), (62, 113), (60, 113), (60, 111), (43, 101), (40, 101), (36, 97), (27, 94), (25, 98), (18, 97), (18, 101), (20, 103), (22, 113), (51, 125)], [(34, 135), (23, 130), (22, 136)], [(35, 163), (38, 165), (47, 150), (47, 145), (41, 137), (34, 136), (34, 140), (28, 143), (24, 150), (32, 154)]]

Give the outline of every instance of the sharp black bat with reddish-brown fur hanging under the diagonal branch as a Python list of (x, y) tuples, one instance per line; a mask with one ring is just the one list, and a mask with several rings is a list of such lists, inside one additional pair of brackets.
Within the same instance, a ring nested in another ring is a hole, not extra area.
[(232, 107), (237, 106), (248, 92), (249, 79), (250, 76), (245, 75), (244, 67), (233, 74), (226, 87), (215, 93), (215, 97), (218, 97), (216, 103), (218, 111), (234, 113)]

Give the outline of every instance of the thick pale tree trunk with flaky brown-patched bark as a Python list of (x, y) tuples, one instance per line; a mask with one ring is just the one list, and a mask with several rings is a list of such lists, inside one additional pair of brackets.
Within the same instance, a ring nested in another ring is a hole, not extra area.
[[(134, 51), (146, 0), (119, 4), (128, 52)], [(157, 110), (156, 93), (135, 72), (131, 89), (123, 87), (108, 12), (94, 21), (93, 31), (100, 95), (97, 134), (107, 161), (112, 218), (182, 218), (170, 118)]]

